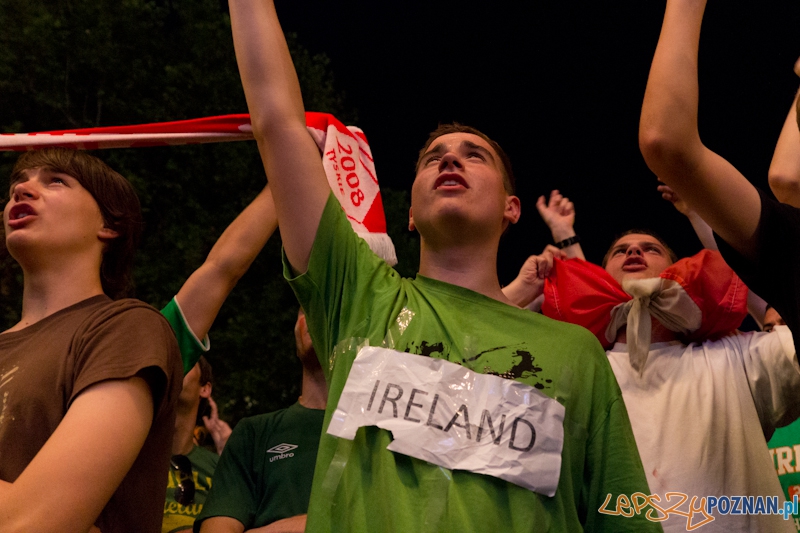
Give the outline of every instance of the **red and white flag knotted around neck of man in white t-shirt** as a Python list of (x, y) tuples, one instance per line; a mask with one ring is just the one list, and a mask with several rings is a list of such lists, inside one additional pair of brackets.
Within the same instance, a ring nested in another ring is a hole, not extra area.
[(597, 265), (557, 259), (544, 295), (542, 313), (585, 327), (606, 349), (626, 326), (631, 366), (639, 372), (650, 351), (651, 316), (682, 340), (702, 342), (732, 333), (747, 315), (747, 287), (711, 250), (623, 286)]

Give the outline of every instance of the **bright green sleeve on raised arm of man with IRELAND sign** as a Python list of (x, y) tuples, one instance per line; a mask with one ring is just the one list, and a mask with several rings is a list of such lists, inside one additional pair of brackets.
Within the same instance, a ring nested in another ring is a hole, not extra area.
[(383, 295), (396, 295), (402, 284), (397, 271), (356, 235), (333, 194), (320, 219), (308, 270), (295, 276), (285, 254), (283, 263), (325, 372), (330, 371), (327, 357), (334, 346), (366, 331), (372, 308), (382, 305)]

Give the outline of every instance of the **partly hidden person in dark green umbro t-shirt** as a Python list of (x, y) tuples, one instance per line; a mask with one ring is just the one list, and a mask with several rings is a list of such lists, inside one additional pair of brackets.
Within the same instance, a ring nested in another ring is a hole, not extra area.
[(287, 409), (236, 425), (195, 531), (305, 530), (328, 387), (302, 310), (294, 334), (303, 365), (300, 398)]

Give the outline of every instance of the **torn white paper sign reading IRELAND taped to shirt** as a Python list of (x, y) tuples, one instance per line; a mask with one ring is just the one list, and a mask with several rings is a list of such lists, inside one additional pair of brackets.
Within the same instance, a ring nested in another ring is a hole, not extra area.
[(392, 432), (388, 450), (553, 496), (561, 472), (564, 406), (535, 388), (443, 359), (362, 348), (328, 433)]

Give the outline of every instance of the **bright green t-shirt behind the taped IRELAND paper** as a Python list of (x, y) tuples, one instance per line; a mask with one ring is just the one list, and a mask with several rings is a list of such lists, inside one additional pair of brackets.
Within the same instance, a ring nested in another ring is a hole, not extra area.
[(552, 498), (387, 451), (391, 434), (376, 427), (354, 441), (323, 433), (306, 531), (661, 531), (643, 514), (598, 512), (608, 494), (616, 502), (648, 487), (614, 374), (587, 330), (434, 279), (401, 278), (355, 235), (333, 196), (308, 271), (291, 279), (284, 258), (284, 275), (327, 373), (325, 428), (365, 340), (518, 380), (566, 409)]

